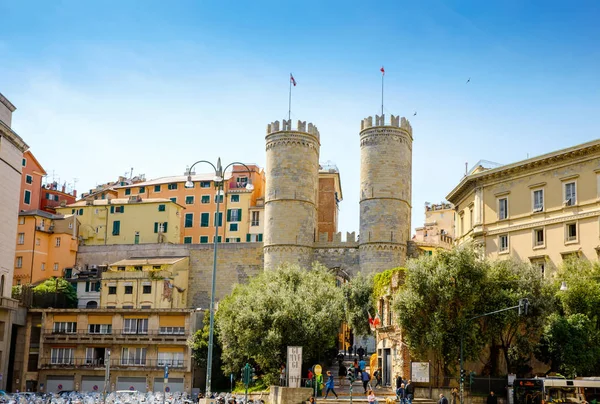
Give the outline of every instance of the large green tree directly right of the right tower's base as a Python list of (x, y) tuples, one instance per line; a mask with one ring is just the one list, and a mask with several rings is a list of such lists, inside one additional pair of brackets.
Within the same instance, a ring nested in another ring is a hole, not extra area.
[(469, 248), (409, 261), (393, 308), (413, 357), (433, 353), (438, 372), (449, 374), (458, 362), (462, 333), (465, 357), (480, 352), (484, 338), (479, 323), (467, 319), (481, 313), (489, 267)]

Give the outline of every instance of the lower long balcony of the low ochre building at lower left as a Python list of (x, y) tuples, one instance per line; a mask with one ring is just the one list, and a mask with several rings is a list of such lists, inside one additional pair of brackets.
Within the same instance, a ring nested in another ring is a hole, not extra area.
[[(61, 363), (56, 363), (56, 360), (45, 357), (40, 360), (40, 369), (97, 369), (104, 370), (105, 363), (103, 358), (71, 358), (70, 360), (62, 359)], [(163, 360), (163, 359), (130, 359), (130, 358), (114, 358), (110, 360), (111, 369), (128, 369), (128, 370), (163, 370), (165, 365), (169, 365), (170, 369), (188, 368), (188, 361), (184, 360)]]

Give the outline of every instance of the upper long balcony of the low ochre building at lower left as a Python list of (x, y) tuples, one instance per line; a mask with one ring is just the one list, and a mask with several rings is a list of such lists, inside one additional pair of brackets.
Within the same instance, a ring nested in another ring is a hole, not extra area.
[(43, 330), (42, 338), (45, 342), (52, 343), (85, 343), (85, 342), (123, 342), (133, 343), (136, 341), (155, 344), (173, 344), (186, 343), (190, 333), (188, 330), (183, 332), (161, 332), (160, 330), (150, 330), (146, 332), (130, 332), (129, 330), (115, 330), (110, 333), (91, 333), (87, 329), (74, 332), (54, 332), (52, 330)]

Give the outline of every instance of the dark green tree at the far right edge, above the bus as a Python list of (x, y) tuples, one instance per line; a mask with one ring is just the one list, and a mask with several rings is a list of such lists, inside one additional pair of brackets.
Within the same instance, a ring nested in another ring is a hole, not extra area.
[(585, 314), (548, 318), (536, 356), (569, 378), (600, 371), (600, 334)]

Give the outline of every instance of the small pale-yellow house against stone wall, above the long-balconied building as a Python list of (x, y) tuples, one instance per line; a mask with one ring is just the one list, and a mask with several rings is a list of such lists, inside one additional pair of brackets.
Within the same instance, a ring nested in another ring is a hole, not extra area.
[(168, 309), (187, 307), (187, 257), (131, 258), (102, 273), (100, 307)]

